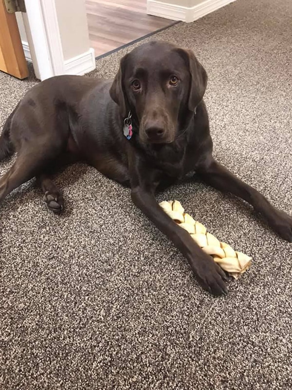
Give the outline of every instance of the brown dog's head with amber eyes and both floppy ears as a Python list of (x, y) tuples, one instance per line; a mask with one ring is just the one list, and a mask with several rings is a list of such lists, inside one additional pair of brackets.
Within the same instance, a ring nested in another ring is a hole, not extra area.
[(173, 142), (203, 98), (207, 74), (190, 50), (164, 41), (145, 43), (120, 62), (110, 88), (121, 115), (131, 111), (143, 143)]

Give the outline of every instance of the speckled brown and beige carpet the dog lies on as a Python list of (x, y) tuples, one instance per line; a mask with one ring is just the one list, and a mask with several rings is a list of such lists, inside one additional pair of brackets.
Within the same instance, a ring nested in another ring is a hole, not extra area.
[[(214, 155), (290, 214), (291, 20), (290, 0), (237, 0), (147, 38), (195, 51), (209, 75)], [(91, 76), (113, 78), (131, 48)], [(1, 123), (36, 82), (0, 74)], [(34, 180), (0, 207), (0, 389), (291, 389), (292, 244), (251, 207), (199, 181), (158, 196), (253, 256), (228, 296), (213, 298), (129, 190), (82, 164), (56, 183), (60, 217)]]

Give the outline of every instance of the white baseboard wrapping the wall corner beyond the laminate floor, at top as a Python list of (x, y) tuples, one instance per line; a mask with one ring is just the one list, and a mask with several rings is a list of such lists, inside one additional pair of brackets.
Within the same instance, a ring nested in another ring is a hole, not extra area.
[(233, 1), (236, 0), (202, 0), (201, 3), (193, 7), (183, 7), (158, 0), (147, 0), (147, 14), (166, 19), (192, 22)]

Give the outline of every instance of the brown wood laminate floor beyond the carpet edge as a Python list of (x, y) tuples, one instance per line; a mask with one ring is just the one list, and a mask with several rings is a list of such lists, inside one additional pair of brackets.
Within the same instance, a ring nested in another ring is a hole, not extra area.
[(85, 4), (95, 57), (174, 22), (147, 15), (146, 0), (86, 0)]

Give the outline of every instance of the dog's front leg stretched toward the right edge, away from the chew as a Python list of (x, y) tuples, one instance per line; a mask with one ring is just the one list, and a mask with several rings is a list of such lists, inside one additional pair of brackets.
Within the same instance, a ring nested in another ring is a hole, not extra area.
[(220, 191), (237, 195), (250, 203), (257, 212), (263, 215), (277, 234), (292, 242), (292, 217), (277, 210), (256, 189), (238, 179), (214, 159), (201, 165), (196, 172), (202, 180), (211, 186)]

